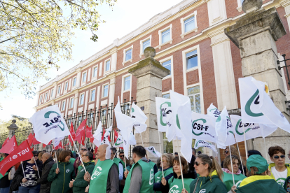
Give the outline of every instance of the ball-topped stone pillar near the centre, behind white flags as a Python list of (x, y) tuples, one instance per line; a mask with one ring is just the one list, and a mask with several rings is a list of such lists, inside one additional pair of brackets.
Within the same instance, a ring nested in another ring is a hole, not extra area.
[[(156, 50), (148, 47), (144, 50), (145, 59), (142, 59), (137, 66), (129, 69), (129, 73), (137, 77), (137, 105), (144, 106), (144, 113), (148, 117), (146, 121), (147, 129), (141, 135), (144, 146), (153, 145), (158, 151), (163, 153), (163, 136), (158, 132), (156, 101), (155, 97), (162, 97), (162, 78), (170, 71), (165, 69), (155, 57)], [(162, 150), (160, 150), (158, 135), (160, 135)], [(140, 135), (136, 135), (137, 145), (141, 145)], [(149, 155), (150, 159), (156, 160)]]

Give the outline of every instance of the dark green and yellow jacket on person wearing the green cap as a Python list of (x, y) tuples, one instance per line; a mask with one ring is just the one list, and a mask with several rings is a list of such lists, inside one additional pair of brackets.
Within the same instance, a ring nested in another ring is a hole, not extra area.
[(244, 178), (237, 193), (286, 193), (281, 185), (276, 183), (270, 176), (250, 176)]

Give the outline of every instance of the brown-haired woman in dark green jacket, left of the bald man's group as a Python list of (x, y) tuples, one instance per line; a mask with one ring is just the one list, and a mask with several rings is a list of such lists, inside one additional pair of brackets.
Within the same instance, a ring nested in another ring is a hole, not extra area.
[[(53, 164), (48, 174), (48, 182), (51, 183), (50, 193), (67, 193), (71, 192), (69, 183), (76, 178), (74, 165), (69, 162), (71, 152), (63, 150), (58, 156), (58, 163)], [(58, 168), (57, 168), (58, 165)]]

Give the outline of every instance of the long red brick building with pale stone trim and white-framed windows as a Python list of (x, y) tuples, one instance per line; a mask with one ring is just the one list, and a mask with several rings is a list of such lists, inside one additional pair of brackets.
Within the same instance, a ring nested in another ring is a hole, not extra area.
[[(276, 42), (282, 60), (282, 54), (286, 58), (290, 55), (290, 0), (263, 1), (263, 8), (272, 7), (277, 8), (287, 32)], [(143, 50), (152, 46), (155, 59), (171, 71), (163, 78), (163, 97), (170, 97), (169, 91), (174, 90), (191, 98), (195, 112), (206, 113), (210, 103), (220, 110), (227, 106), (239, 112), (240, 50), (223, 29), (242, 15), (242, 0), (181, 1), (41, 86), (35, 109), (57, 104), (62, 115), (69, 116), (116, 104), (118, 96), (121, 101), (136, 99), (137, 78), (127, 71), (144, 59)], [(287, 85), (286, 72), (282, 72)], [(289, 89), (285, 86), (287, 99)]]

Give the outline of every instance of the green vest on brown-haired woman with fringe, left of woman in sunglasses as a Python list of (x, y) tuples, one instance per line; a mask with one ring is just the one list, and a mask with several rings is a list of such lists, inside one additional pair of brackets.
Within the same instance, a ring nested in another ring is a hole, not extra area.
[(182, 185), (182, 179), (174, 178), (173, 176), (168, 180), (170, 191), (168, 193), (181, 193), (184, 187), (188, 192), (191, 191), (189, 185), (193, 181), (193, 178), (184, 178), (184, 186)]

